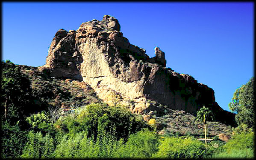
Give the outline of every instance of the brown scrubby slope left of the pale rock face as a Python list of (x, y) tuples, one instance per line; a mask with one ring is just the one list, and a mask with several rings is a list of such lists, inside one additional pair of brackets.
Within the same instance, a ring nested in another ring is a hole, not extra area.
[(50, 111), (57, 120), (68, 109), (76, 109), (90, 103), (102, 103), (95, 91), (83, 81), (49, 77), (37, 67), (18, 65), (28, 77), (35, 104)]

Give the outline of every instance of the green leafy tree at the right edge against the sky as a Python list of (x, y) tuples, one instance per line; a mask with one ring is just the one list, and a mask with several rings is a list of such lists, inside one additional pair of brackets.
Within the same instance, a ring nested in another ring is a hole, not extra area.
[[(229, 103), (229, 108), (232, 112), (236, 112), (235, 121), (238, 126), (243, 126), (246, 129), (255, 129), (254, 126), (254, 77), (235, 90), (232, 101)], [(245, 127), (244, 127), (245, 126)]]

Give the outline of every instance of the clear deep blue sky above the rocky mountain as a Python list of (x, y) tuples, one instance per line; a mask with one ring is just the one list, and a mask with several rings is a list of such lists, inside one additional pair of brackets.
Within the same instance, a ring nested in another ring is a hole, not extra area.
[(190, 74), (215, 91), (227, 111), (235, 89), (254, 75), (253, 2), (2, 2), (2, 60), (43, 66), (59, 29), (111, 15), (131, 44), (154, 56), (165, 52), (166, 67)]

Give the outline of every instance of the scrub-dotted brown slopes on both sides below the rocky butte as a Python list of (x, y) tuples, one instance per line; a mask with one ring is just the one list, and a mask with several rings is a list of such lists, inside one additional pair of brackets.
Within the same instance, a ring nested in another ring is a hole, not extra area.
[[(57, 77), (49, 77), (47, 73), (41, 72), (37, 67), (25, 65), (16, 65), (21, 72), (28, 77), (32, 95), (37, 97), (34, 99), (37, 108), (50, 111), (53, 120), (57, 120), (61, 115), (69, 114), (69, 109), (77, 109), (91, 103), (103, 103), (95, 91), (85, 82), (79, 80), (63, 79)], [(159, 134), (178, 134), (178, 135), (194, 135), (202, 137), (203, 123), (194, 121), (195, 117), (189, 112), (183, 110), (168, 109), (166, 106), (148, 100), (150, 109), (154, 110), (148, 114), (136, 115), (141, 120), (156, 119)], [(127, 106), (126, 106), (127, 107)], [(129, 109), (129, 107), (127, 108)], [(207, 123), (207, 133), (209, 137), (218, 134), (232, 134), (230, 125), (212, 121)]]

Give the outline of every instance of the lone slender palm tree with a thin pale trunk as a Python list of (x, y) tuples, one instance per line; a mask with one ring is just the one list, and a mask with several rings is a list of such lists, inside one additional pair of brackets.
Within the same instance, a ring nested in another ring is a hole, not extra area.
[(204, 138), (205, 138), (205, 148), (207, 149), (207, 142), (206, 142), (206, 117), (207, 118), (213, 118), (212, 117), (212, 111), (209, 110), (209, 108), (203, 106), (199, 111), (197, 111), (197, 121), (203, 121), (204, 124)]

